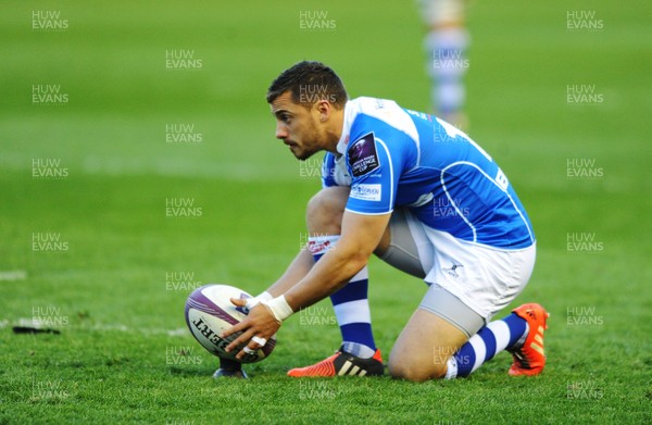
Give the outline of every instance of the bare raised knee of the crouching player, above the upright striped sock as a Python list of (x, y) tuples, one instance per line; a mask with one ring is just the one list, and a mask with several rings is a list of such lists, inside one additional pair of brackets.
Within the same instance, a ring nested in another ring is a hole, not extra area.
[(319, 190), (311, 198), (305, 209), (308, 230), (312, 234), (339, 235), (348, 199), (348, 187), (328, 187)]

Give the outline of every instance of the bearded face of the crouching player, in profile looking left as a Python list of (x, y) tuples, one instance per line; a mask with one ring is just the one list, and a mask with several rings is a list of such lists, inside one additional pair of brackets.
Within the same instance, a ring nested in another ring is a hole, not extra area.
[(327, 140), (317, 108), (309, 110), (294, 103), (291, 92), (286, 91), (272, 102), (272, 113), (276, 117), (276, 138), (289, 146), (299, 160), (325, 149)]

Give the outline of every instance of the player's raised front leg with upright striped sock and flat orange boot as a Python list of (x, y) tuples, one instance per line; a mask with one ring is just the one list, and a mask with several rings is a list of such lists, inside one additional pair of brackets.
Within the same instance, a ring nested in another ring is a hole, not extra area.
[[(348, 187), (333, 187), (323, 189), (309, 202), (309, 249), (315, 262), (328, 250), (337, 249), (348, 198)], [(372, 333), (367, 290), (368, 271), (365, 266), (344, 287), (330, 296), (342, 336), (340, 352), (314, 365), (293, 368), (288, 372), (289, 376), (383, 374), (383, 359)]]

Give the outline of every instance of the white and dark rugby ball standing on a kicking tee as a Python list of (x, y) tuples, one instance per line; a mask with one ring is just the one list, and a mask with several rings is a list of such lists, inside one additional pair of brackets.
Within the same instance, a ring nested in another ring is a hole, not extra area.
[(234, 334), (227, 338), (220, 338), (223, 330), (240, 323), (249, 313), (242, 307), (236, 307), (230, 298), (251, 298), (246, 291), (228, 285), (204, 285), (197, 288), (186, 301), (186, 324), (190, 333), (209, 352), (240, 363), (255, 363), (267, 358), (276, 346), (276, 338), (272, 337), (267, 343), (242, 359), (236, 354), (242, 349), (226, 352), (226, 346), (240, 336)]

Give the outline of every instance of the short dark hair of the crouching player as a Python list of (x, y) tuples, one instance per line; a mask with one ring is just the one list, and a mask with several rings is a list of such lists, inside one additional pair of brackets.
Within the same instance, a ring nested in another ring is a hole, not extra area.
[(335, 71), (316, 61), (302, 61), (280, 73), (267, 89), (267, 103), (288, 90), (292, 101), (305, 108), (318, 100), (328, 100), (341, 109), (348, 100), (344, 85)]

